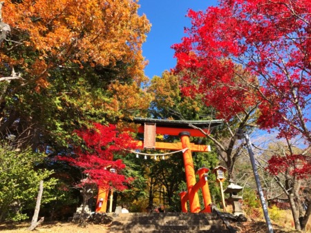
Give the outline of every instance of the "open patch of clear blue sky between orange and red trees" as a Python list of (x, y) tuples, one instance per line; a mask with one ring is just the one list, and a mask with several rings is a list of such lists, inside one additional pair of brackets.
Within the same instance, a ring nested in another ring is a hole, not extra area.
[(147, 41), (142, 45), (142, 54), (149, 61), (144, 71), (151, 79), (176, 65), (171, 45), (180, 43), (186, 35), (184, 28), (191, 25), (190, 19), (185, 17), (187, 10), (206, 10), (218, 3), (216, 0), (140, 0), (138, 4), (138, 13), (146, 14), (152, 24)]

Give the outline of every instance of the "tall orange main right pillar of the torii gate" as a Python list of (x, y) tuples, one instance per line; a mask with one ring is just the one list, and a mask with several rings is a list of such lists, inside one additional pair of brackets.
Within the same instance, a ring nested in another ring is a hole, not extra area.
[(194, 162), (192, 161), (192, 155), (191, 155), (191, 150), (190, 150), (190, 142), (189, 142), (190, 133), (187, 131), (184, 131), (184, 132), (181, 132), (179, 135), (180, 135), (180, 140), (182, 142), (182, 148), (183, 149), (188, 148), (188, 150), (186, 150), (183, 153), (183, 159), (184, 159), (185, 172), (186, 172), (190, 212), (198, 213), (200, 212), (200, 201), (198, 198), (198, 193), (192, 192), (192, 188), (196, 184), (196, 174), (194, 172)]

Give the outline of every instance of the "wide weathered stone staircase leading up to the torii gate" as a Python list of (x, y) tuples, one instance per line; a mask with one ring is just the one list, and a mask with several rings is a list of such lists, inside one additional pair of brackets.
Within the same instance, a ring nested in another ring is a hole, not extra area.
[(129, 213), (119, 214), (110, 232), (231, 232), (216, 213)]

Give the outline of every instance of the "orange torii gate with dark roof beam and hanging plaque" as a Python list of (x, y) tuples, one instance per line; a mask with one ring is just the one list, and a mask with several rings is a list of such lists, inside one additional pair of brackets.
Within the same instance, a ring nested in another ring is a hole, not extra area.
[[(194, 171), (194, 163), (192, 160), (192, 152), (209, 152), (208, 145), (195, 145), (190, 143), (189, 136), (205, 136), (200, 130), (191, 128), (189, 125), (195, 125), (204, 132), (209, 133), (209, 128), (223, 123), (221, 120), (211, 121), (171, 121), (161, 119), (144, 119), (134, 118), (134, 123), (140, 124), (138, 132), (144, 133), (144, 141), (138, 141), (144, 148), (152, 148), (158, 150), (182, 150), (183, 161), (185, 165), (187, 192), (180, 193), (182, 212), (187, 212), (187, 201), (189, 201), (190, 212), (211, 212), (211, 195), (209, 193), (209, 185), (207, 182), (208, 168), (200, 168), (196, 173)], [(132, 129), (130, 129), (133, 131)], [(171, 136), (180, 136), (180, 143), (163, 143), (156, 142), (156, 134), (166, 134)], [(186, 150), (187, 149), (187, 150)], [(199, 181), (196, 181), (196, 174)], [(198, 190), (202, 188), (204, 200), (204, 209), (200, 210), (200, 201), (198, 198)], [(108, 191), (99, 190), (97, 196), (96, 212), (106, 212), (108, 201)]]

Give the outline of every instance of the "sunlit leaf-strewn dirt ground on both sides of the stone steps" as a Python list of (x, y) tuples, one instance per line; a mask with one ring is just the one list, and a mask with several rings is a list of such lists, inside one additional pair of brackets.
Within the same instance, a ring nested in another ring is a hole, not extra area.
[[(2, 224), (0, 225), (1, 233), (15, 233), (15, 232), (29, 232), (27, 228), (29, 223), (19, 224)], [(267, 225), (264, 221), (247, 221), (245, 223), (230, 223), (232, 227), (236, 228), (239, 233), (265, 233), (267, 232)], [(274, 233), (294, 233), (297, 232), (291, 227), (281, 227), (273, 224)], [(68, 222), (46, 222), (40, 225), (33, 232), (42, 233), (108, 233), (109, 225), (95, 225), (88, 224), (86, 227), (79, 227), (75, 223)]]

